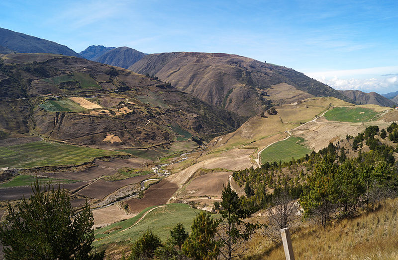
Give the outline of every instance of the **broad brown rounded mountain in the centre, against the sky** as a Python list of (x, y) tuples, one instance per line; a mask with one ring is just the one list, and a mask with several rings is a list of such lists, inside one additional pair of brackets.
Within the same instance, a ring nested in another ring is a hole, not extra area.
[[(291, 68), (223, 53), (161, 53), (147, 55), (129, 67), (156, 75), (199, 99), (240, 115), (253, 116), (273, 103), (293, 103), (312, 96), (350, 101), (333, 88)], [(283, 85), (278, 85), (284, 83)], [(280, 95), (279, 86), (289, 91)], [(272, 93), (279, 93), (274, 96)], [(304, 94), (304, 96), (302, 96)], [(351, 101), (352, 102), (352, 101)]]

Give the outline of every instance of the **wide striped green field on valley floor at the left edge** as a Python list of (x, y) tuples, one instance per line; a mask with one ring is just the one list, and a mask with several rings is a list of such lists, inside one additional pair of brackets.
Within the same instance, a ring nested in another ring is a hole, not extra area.
[(31, 168), (46, 165), (79, 165), (118, 152), (55, 142), (36, 141), (0, 147), (0, 167)]

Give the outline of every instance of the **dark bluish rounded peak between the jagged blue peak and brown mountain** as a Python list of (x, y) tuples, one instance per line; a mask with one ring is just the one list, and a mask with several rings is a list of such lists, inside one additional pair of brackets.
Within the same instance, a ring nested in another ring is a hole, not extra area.
[(141, 60), (146, 54), (128, 47), (119, 47), (93, 60), (99, 63), (108, 64), (117, 67), (128, 68), (137, 61)]

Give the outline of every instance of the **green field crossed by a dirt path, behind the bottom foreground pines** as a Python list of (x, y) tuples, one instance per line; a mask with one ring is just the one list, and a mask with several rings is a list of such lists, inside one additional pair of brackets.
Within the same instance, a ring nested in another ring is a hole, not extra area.
[[(153, 207), (152, 207), (153, 208)], [(170, 236), (170, 230), (178, 223), (184, 224), (185, 229), (191, 233), (191, 225), (199, 212), (187, 204), (167, 204), (164, 207), (156, 208), (149, 212), (137, 225), (132, 226), (143, 214), (151, 208), (146, 208), (137, 216), (118, 223), (95, 230), (95, 246), (117, 241), (135, 241), (148, 229), (153, 230), (162, 241)], [(213, 215), (215, 217), (215, 215)], [(124, 230), (124, 231), (123, 231)], [(106, 234), (109, 233), (109, 234)]]

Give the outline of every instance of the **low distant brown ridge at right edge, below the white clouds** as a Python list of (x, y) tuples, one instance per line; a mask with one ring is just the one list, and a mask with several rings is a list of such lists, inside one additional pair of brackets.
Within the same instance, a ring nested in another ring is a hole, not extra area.
[(376, 92), (365, 93), (360, 90), (339, 90), (340, 93), (354, 100), (359, 105), (375, 104), (382, 107), (396, 106), (393, 100), (383, 97)]

